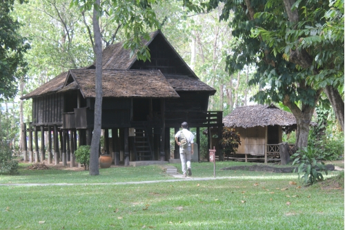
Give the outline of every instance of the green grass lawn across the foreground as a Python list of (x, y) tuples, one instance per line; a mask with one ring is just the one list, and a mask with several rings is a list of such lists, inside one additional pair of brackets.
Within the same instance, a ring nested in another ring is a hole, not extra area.
[[(336, 184), (344, 173), (331, 173), (324, 184), (301, 186), (295, 173), (219, 170), (239, 164), (246, 163), (216, 163), (217, 177), (233, 178), (106, 185), (92, 183), (168, 176), (159, 166), (102, 169), (96, 177), (21, 166), (26, 178), (0, 175), (0, 183), (46, 177), (46, 183), (90, 184), (0, 186), (0, 229), (344, 229), (344, 188)], [(212, 163), (192, 166), (193, 177), (213, 177)]]

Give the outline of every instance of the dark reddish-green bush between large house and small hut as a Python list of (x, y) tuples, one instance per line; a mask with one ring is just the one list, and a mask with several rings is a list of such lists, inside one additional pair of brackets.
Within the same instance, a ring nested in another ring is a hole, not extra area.
[(241, 144), (239, 133), (235, 128), (223, 127), (223, 139), (219, 141), (224, 148), (224, 154), (230, 155), (237, 153), (237, 148)]

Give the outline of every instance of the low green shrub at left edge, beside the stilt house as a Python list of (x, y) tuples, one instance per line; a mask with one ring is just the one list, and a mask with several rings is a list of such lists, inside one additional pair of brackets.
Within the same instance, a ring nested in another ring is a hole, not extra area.
[(0, 146), (0, 174), (17, 174), (18, 162), (12, 159), (12, 151), (7, 145)]

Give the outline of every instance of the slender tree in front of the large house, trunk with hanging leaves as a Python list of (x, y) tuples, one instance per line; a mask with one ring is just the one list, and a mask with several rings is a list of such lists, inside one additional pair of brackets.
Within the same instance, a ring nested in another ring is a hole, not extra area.
[[(136, 54), (137, 59), (150, 59), (148, 47), (143, 46), (142, 39), (149, 40), (148, 30), (159, 28), (155, 12), (150, 4), (155, 0), (148, 1), (117, 1), (111, 0), (108, 8), (101, 6), (100, 0), (81, 1), (83, 7), (81, 10), (93, 9), (93, 37), (95, 42), (95, 61), (96, 61), (96, 77), (95, 77), (95, 124), (91, 141), (90, 153), (90, 175), (99, 175), (98, 153), (99, 141), (101, 137), (101, 103), (102, 103), (102, 47), (101, 47), (101, 30), (99, 29), (99, 20), (101, 15), (106, 12), (112, 17), (112, 21), (124, 28), (128, 40), (125, 42), (125, 48), (132, 50), (132, 55)], [(105, 4), (104, 3), (104, 4)], [(71, 5), (79, 5), (79, 0), (72, 1)]]

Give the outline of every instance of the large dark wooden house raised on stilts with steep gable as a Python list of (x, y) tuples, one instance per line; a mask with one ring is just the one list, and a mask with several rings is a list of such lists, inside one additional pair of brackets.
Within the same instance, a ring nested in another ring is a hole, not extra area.
[[(135, 55), (130, 57), (130, 50), (124, 49), (122, 43), (103, 50), (101, 126), (105, 130), (106, 153), (112, 154), (115, 164), (120, 160), (128, 165), (130, 161), (170, 159), (170, 128), (177, 132), (184, 121), (190, 128), (197, 128), (197, 143), (200, 143), (200, 127), (219, 127), (221, 135), (222, 112), (207, 111), (208, 99), (216, 90), (200, 81), (160, 31), (150, 37), (150, 41), (145, 41), (150, 49), (150, 61), (139, 61)], [(38, 161), (39, 145), (36, 144), (33, 151), (31, 137), (34, 131), (37, 142), (38, 128), (42, 137), (43, 131), (54, 136), (54, 141), (47, 146), (48, 162), (52, 162), (54, 144), (55, 155), (61, 149), (62, 161), (66, 164), (67, 153), (72, 153), (77, 145), (77, 131), (79, 145), (91, 143), (94, 65), (61, 73), (21, 97), (30, 98), (30, 160), (36, 155)], [(42, 142), (41, 146), (44, 145)], [(41, 153), (42, 160), (44, 152)], [(175, 158), (178, 157), (175, 145)], [(55, 157), (55, 162), (59, 162), (59, 157)]]

